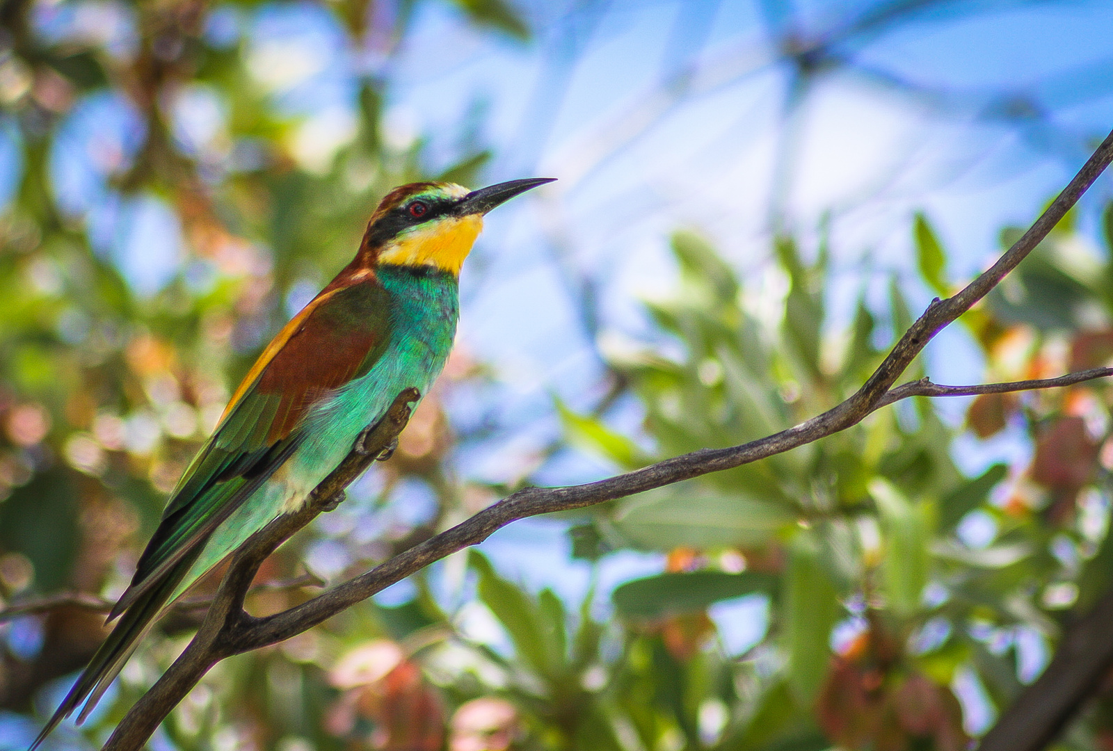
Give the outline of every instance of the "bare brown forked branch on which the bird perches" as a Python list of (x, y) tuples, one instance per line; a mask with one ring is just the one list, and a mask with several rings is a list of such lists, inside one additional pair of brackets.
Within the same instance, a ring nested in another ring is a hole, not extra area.
[[(462, 524), (415, 545), (372, 571), (344, 582), (301, 605), (267, 617), (256, 619), (245, 613), (243, 611), (245, 593), (264, 559), (289, 535), (307, 524), (317, 513), (328, 507), (329, 504), (335, 504), (342, 496), (343, 488), (370, 465), (374, 458), (372, 453), (376, 453), (390, 444), (388, 441), (378, 443), (373, 438), (381, 439), (393, 432), (391, 436), (393, 439), (397, 432), (401, 432), (408, 418), (408, 403), (416, 399), (416, 392), (411, 389), (410, 394), (401, 394), (395, 399), (388, 416), (371, 431), (366, 441), (357, 442), (353, 453), (314, 491), (311, 500), (301, 511), (275, 520), (262, 532), (253, 535), (234, 554), (213, 606), (197, 635), (155, 686), (127, 713), (105, 745), (106, 751), (137, 751), (140, 749), (162, 719), (185, 696), (186, 692), (200, 680), (209, 668), (224, 658), (274, 644), (302, 633), (430, 563), (469, 545), (483, 542), (495, 530), (513, 521), (555, 511), (582, 508), (756, 462), (844, 431), (859, 423), (885, 404), (890, 404), (898, 398), (920, 394), (932, 396), (976, 393), (971, 389), (981, 387), (937, 386), (923, 381), (904, 384), (896, 388), (893, 388), (893, 384), (942, 328), (953, 323), (985, 297), (1047, 236), (1111, 160), (1113, 160), (1113, 132), (1105, 138), (1082, 170), (1036, 219), (1028, 231), (993, 267), (975, 278), (954, 297), (945, 300), (933, 300), (924, 315), (900, 337), (866, 384), (850, 398), (833, 409), (787, 431), (740, 446), (705, 448), (584, 485), (546, 488), (525, 487), (481, 511)], [(1086, 379), (1107, 375), (1104, 368), (1100, 368), (1100, 370), (1101, 373), (1096, 374), (1089, 372), (1087, 374), (1065, 376), (1065, 378), (1085, 376), (1082, 379)], [(1077, 383), (1077, 381), (1072, 383)], [(989, 388), (994, 387), (1003, 391), (1023, 391), (1037, 386), (1033, 386), (1032, 382), (1021, 382), (1020, 384), (995, 385)], [(943, 389), (943, 393), (939, 393), (938, 389)]]

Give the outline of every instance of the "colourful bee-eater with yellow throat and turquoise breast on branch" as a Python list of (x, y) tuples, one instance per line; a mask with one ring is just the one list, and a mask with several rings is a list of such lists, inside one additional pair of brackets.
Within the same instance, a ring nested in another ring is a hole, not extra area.
[[(456, 332), (457, 280), (483, 216), (549, 178), (383, 198), (351, 264), (278, 332), (170, 494), (105, 643), (36, 740), (85, 720), (158, 616), (277, 516), (298, 508), (395, 396), (425, 394)], [(32, 747), (33, 749), (35, 747)]]

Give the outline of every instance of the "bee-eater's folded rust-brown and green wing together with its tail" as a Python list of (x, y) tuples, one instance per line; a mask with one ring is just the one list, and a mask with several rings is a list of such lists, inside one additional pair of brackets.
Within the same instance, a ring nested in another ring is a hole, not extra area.
[(380, 358), (391, 339), (391, 313), (376, 278), (334, 281), (267, 346), (170, 495), (130, 586), (109, 614), (122, 614), (119, 623), (36, 745), (82, 701), (79, 720), (92, 710), (174, 593), (191, 584), (185, 576), (209, 536), (297, 449), (305, 414)]

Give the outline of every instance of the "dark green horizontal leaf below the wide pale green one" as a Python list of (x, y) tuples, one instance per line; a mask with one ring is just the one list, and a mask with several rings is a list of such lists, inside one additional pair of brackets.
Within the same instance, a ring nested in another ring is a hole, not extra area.
[(611, 595), (614, 610), (624, 617), (652, 621), (668, 615), (696, 613), (721, 600), (759, 592), (770, 593), (775, 576), (745, 571), (669, 572), (637, 579), (618, 586)]

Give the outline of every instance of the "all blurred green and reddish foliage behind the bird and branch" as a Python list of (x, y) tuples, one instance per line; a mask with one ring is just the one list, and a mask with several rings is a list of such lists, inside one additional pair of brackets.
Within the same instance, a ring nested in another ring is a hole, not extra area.
[[(328, 14), (349, 53), (388, 57), (420, 4), (302, 7)], [(530, 38), (503, 0), (450, 4), (480, 33)], [(0, 127), (19, 155), (0, 216), (0, 606), (118, 594), (262, 345), (347, 260), (386, 189), (435, 176), (420, 139), (384, 136), (385, 83), (370, 73), (351, 138), (311, 148), (305, 119), (266, 83), (260, 60), (282, 59), (244, 33), (262, 7), (0, 6)], [(126, 31), (101, 34), (80, 12)], [(218, 127), (181, 130), (183, 111), (214, 101)], [(89, 135), (90, 118), (121, 118), (124, 135)], [(474, 184), (489, 151), (463, 130), (442, 171)], [(77, 202), (59, 185), (75, 165), (87, 167)], [(157, 244), (129, 245), (121, 218), (141, 207), (181, 236), (155, 284), (141, 261)], [(1104, 226), (1113, 241), (1113, 211)], [(953, 290), (928, 218), (910, 233), (919, 281)], [(752, 285), (695, 234), (678, 233), (672, 249), (676, 288), (647, 303), (660, 340), (609, 362), (643, 429), (624, 435), (558, 405), (563, 445), (615, 470), (742, 443), (837, 404), (913, 319), (894, 279), (886, 305), (863, 291), (846, 325), (829, 320), (826, 246), (779, 238), (776, 267)], [(995, 381), (1105, 364), (1113, 263), (1064, 223), (962, 326)], [(267, 563), (272, 586), (253, 595), (254, 612), (307, 597), (304, 579), (290, 581), (306, 567), (331, 581), (365, 570), (496, 497), (452, 472), (465, 436), (441, 406), (443, 389), (483, 378), (454, 354), (395, 457)], [(422, 574), (402, 604), (362, 603), (217, 665), (157, 748), (966, 748), (1110, 584), (1111, 396), (1101, 384), (985, 396), (965, 425), (916, 399), (789, 454), (579, 514), (571, 553), (597, 574), (617, 551), (667, 561), (582, 602), (529, 591), (481, 553), (455, 556), (441, 572), (462, 583), (459, 596)], [(993, 442), (1031, 455), (959, 471), (954, 455)], [(102, 740), (196, 623), (194, 611), (166, 619), (89, 723), (48, 743)], [(26, 747), (102, 633), (77, 609), (0, 623), (0, 749)], [(1065, 743), (1113, 743), (1113, 698)]]

